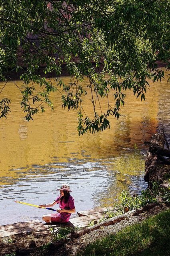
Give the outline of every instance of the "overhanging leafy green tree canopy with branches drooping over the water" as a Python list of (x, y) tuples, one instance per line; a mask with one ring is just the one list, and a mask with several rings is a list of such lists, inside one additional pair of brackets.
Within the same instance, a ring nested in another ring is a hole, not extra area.
[[(18, 89), (28, 121), (44, 112), (46, 104), (53, 108), (50, 93), (56, 92), (64, 108), (78, 112), (79, 135), (105, 130), (110, 115), (119, 118), (126, 90), (144, 100), (147, 79), (156, 82), (164, 76), (157, 61), (170, 69), (169, 17), (170, 0), (2, 0), (0, 78), (8, 82), (8, 70), (22, 71)], [(70, 84), (60, 80), (62, 64)], [(99, 66), (102, 71), (96, 72)], [(48, 79), (50, 73), (55, 82)], [(85, 77), (88, 86), (81, 83)], [(92, 117), (84, 111), (87, 87)], [(104, 97), (107, 106), (102, 109)], [(7, 116), (9, 105), (2, 89), (0, 118)]]

